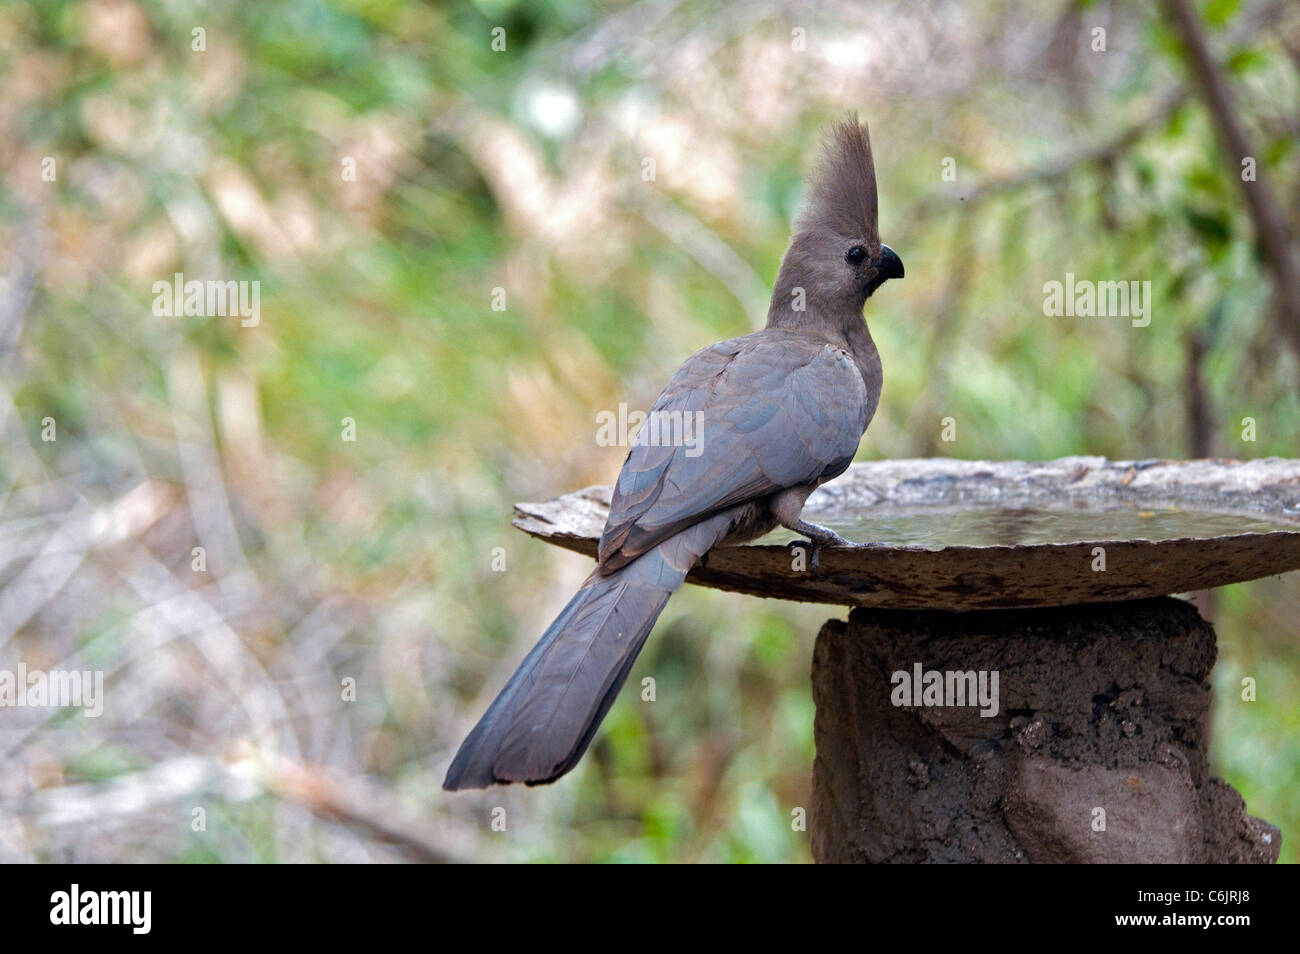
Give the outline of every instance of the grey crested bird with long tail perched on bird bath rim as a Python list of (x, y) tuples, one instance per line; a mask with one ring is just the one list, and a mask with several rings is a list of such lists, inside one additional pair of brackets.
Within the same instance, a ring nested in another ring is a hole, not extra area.
[(767, 326), (689, 357), (654, 404), (650, 420), (701, 413), (697, 452), (633, 442), (595, 571), (462, 743), (445, 789), (541, 785), (573, 768), (711, 547), (785, 526), (811, 541), (815, 572), (820, 547), (846, 545), (801, 513), (848, 469), (876, 411), (880, 356), (862, 309), (904, 276), (880, 244), (871, 142), (855, 114), (829, 130), (806, 196)]

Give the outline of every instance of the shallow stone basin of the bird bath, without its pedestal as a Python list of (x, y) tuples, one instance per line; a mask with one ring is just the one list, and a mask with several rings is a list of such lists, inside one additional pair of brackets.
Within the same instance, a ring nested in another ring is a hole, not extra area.
[[(595, 555), (608, 487), (516, 504), (515, 525)], [(1141, 599), (1300, 569), (1300, 461), (890, 460), (855, 464), (803, 516), (858, 543), (814, 577), (779, 530), (688, 577), (758, 597), (914, 610)]]

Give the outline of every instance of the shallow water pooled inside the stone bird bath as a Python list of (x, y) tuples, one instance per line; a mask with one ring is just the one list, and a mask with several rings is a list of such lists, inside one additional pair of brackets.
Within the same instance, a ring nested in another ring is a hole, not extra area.
[[(1026, 508), (992, 507), (881, 507), (855, 516), (820, 519), (805, 513), (823, 526), (855, 543), (924, 547), (949, 546), (1032, 546), (1041, 543), (1080, 543), (1124, 539), (1199, 539), (1242, 533), (1300, 533), (1300, 524), (1274, 522), (1264, 516), (1214, 513), (1195, 509), (1136, 507), (1092, 509), (1078, 507)], [(800, 539), (789, 530), (776, 530), (763, 543)]]

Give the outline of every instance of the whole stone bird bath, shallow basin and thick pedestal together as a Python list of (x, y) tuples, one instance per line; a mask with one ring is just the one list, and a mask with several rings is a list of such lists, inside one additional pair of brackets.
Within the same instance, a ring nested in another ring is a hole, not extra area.
[[(594, 556), (608, 494), (515, 525)], [(818, 860), (1277, 859), (1209, 775), (1214, 632), (1167, 594), (1300, 569), (1300, 460), (855, 464), (803, 516), (855, 546), (814, 574), (779, 532), (688, 580), (858, 607), (814, 651)], [(900, 698), (928, 672), (996, 672), (997, 711)]]

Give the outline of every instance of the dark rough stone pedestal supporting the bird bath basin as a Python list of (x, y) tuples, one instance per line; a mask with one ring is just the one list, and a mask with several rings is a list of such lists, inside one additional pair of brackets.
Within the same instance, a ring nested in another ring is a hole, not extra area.
[[(854, 610), (816, 641), (818, 862), (1271, 863), (1210, 777), (1214, 630), (1171, 598)], [(997, 671), (998, 711), (894, 706), (894, 672)]]

